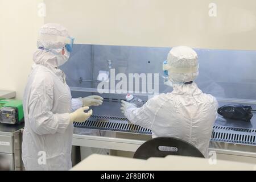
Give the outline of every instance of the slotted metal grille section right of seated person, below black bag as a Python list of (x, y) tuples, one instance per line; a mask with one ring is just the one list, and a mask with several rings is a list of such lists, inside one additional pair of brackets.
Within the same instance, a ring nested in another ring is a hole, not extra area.
[(218, 142), (256, 145), (256, 130), (213, 126), (212, 140)]

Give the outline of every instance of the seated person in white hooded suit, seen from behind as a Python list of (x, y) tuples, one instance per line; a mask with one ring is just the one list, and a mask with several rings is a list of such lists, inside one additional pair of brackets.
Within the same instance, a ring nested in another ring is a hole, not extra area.
[(154, 96), (137, 108), (122, 101), (121, 110), (131, 123), (152, 130), (152, 138), (175, 137), (198, 148), (208, 158), (218, 102), (196, 85), (199, 75), (197, 53), (189, 47), (174, 47), (163, 63), (173, 91)]

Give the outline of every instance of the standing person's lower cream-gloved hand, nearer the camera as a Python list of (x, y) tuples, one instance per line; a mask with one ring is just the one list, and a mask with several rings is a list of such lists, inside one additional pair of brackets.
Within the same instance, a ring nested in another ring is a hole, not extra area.
[(92, 115), (92, 109), (88, 111), (88, 113), (85, 113), (84, 110), (88, 110), (89, 107), (81, 107), (80, 109), (77, 109), (75, 112), (70, 113), (70, 122), (84, 122), (86, 121), (91, 115)]

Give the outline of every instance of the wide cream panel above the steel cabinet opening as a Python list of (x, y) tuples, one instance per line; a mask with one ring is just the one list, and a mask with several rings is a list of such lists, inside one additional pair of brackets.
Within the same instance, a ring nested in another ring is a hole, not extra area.
[[(255, 0), (45, 0), (76, 43), (256, 50)], [(209, 16), (216, 3), (217, 16)]]

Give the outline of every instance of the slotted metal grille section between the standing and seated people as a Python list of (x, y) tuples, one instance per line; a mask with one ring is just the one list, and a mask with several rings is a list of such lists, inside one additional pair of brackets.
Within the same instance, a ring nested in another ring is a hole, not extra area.
[[(124, 122), (125, 121), (125, 122)], [(102, 115), (92, 115), (88, 120), (82, 123), (74, 122), (75, 127), (87, 129), (122, 131), (127, 133), (138, 133), (151, 135), (150, 129), (144, 129), (141, 126), (127, 123), (128, 120), (122, 117), (110, 117)]]

